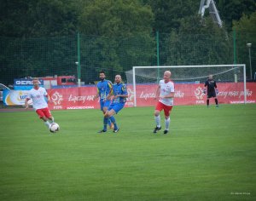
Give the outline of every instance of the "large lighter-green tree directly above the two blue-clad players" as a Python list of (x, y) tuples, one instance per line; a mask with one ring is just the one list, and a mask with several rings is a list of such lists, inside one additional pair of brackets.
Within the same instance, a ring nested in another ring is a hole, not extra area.
[(97, 75), (105, 69), (113, 77), (114, 73), (124, 73), (137, 65), (137, 58), (149, 62), (154, 55), (154, 49), (148, 49), (154, 45), (154, 37), (151, 37), (153, 22), (150, 7), (143, 6), (138, 0), (86, 3), (79, 17), (79, 32), (96, 36), (82, 37), (81, 60), (86, 72)]

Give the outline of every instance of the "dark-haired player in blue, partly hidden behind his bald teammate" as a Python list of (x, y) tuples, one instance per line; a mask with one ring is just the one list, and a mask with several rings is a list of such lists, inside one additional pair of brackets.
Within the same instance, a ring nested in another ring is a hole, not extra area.
[[(108, 100), (107, 96), (112, 93), (113, 85), (109, 80), (106, 79), (105, 72), (100, 72), (100, 79), (101, 80), (97, 83), (97, 94), (95, 95), (94, 100), (100, 97), (101, 110), (104, 115), (111, 103), (111, 100)], [(108, 119), (108, 125), (110, 129), (113, 129), (111, 119)]]

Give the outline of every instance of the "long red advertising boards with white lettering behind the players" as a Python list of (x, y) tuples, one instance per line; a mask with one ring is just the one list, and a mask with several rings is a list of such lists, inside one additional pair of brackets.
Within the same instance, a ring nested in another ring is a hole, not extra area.
[[(157, 84), (137, 85), (137, 106), (154, 106), (155, 90)], [(202, 93), (202, 83), (177, 83), (175, 84), (174, 105), (201, 105), (206, 104), (207, 95)], [(128, 99), (126, 106), (134, 106), (134, 91), (128, 85)], [(220, 104), (243, 103), (243, 83), (218, 83), (218, 102)], [(51, 97), (50, 109), (90, 109), (100, 108), (99, 101), (93, 100), (96, 87), (80, 87), (65, 89), (49, 89)], [(247, 83), (247, 102), (256, 102), (256, 83)], [(213, 101), (213, 100), (212, 100)]]

